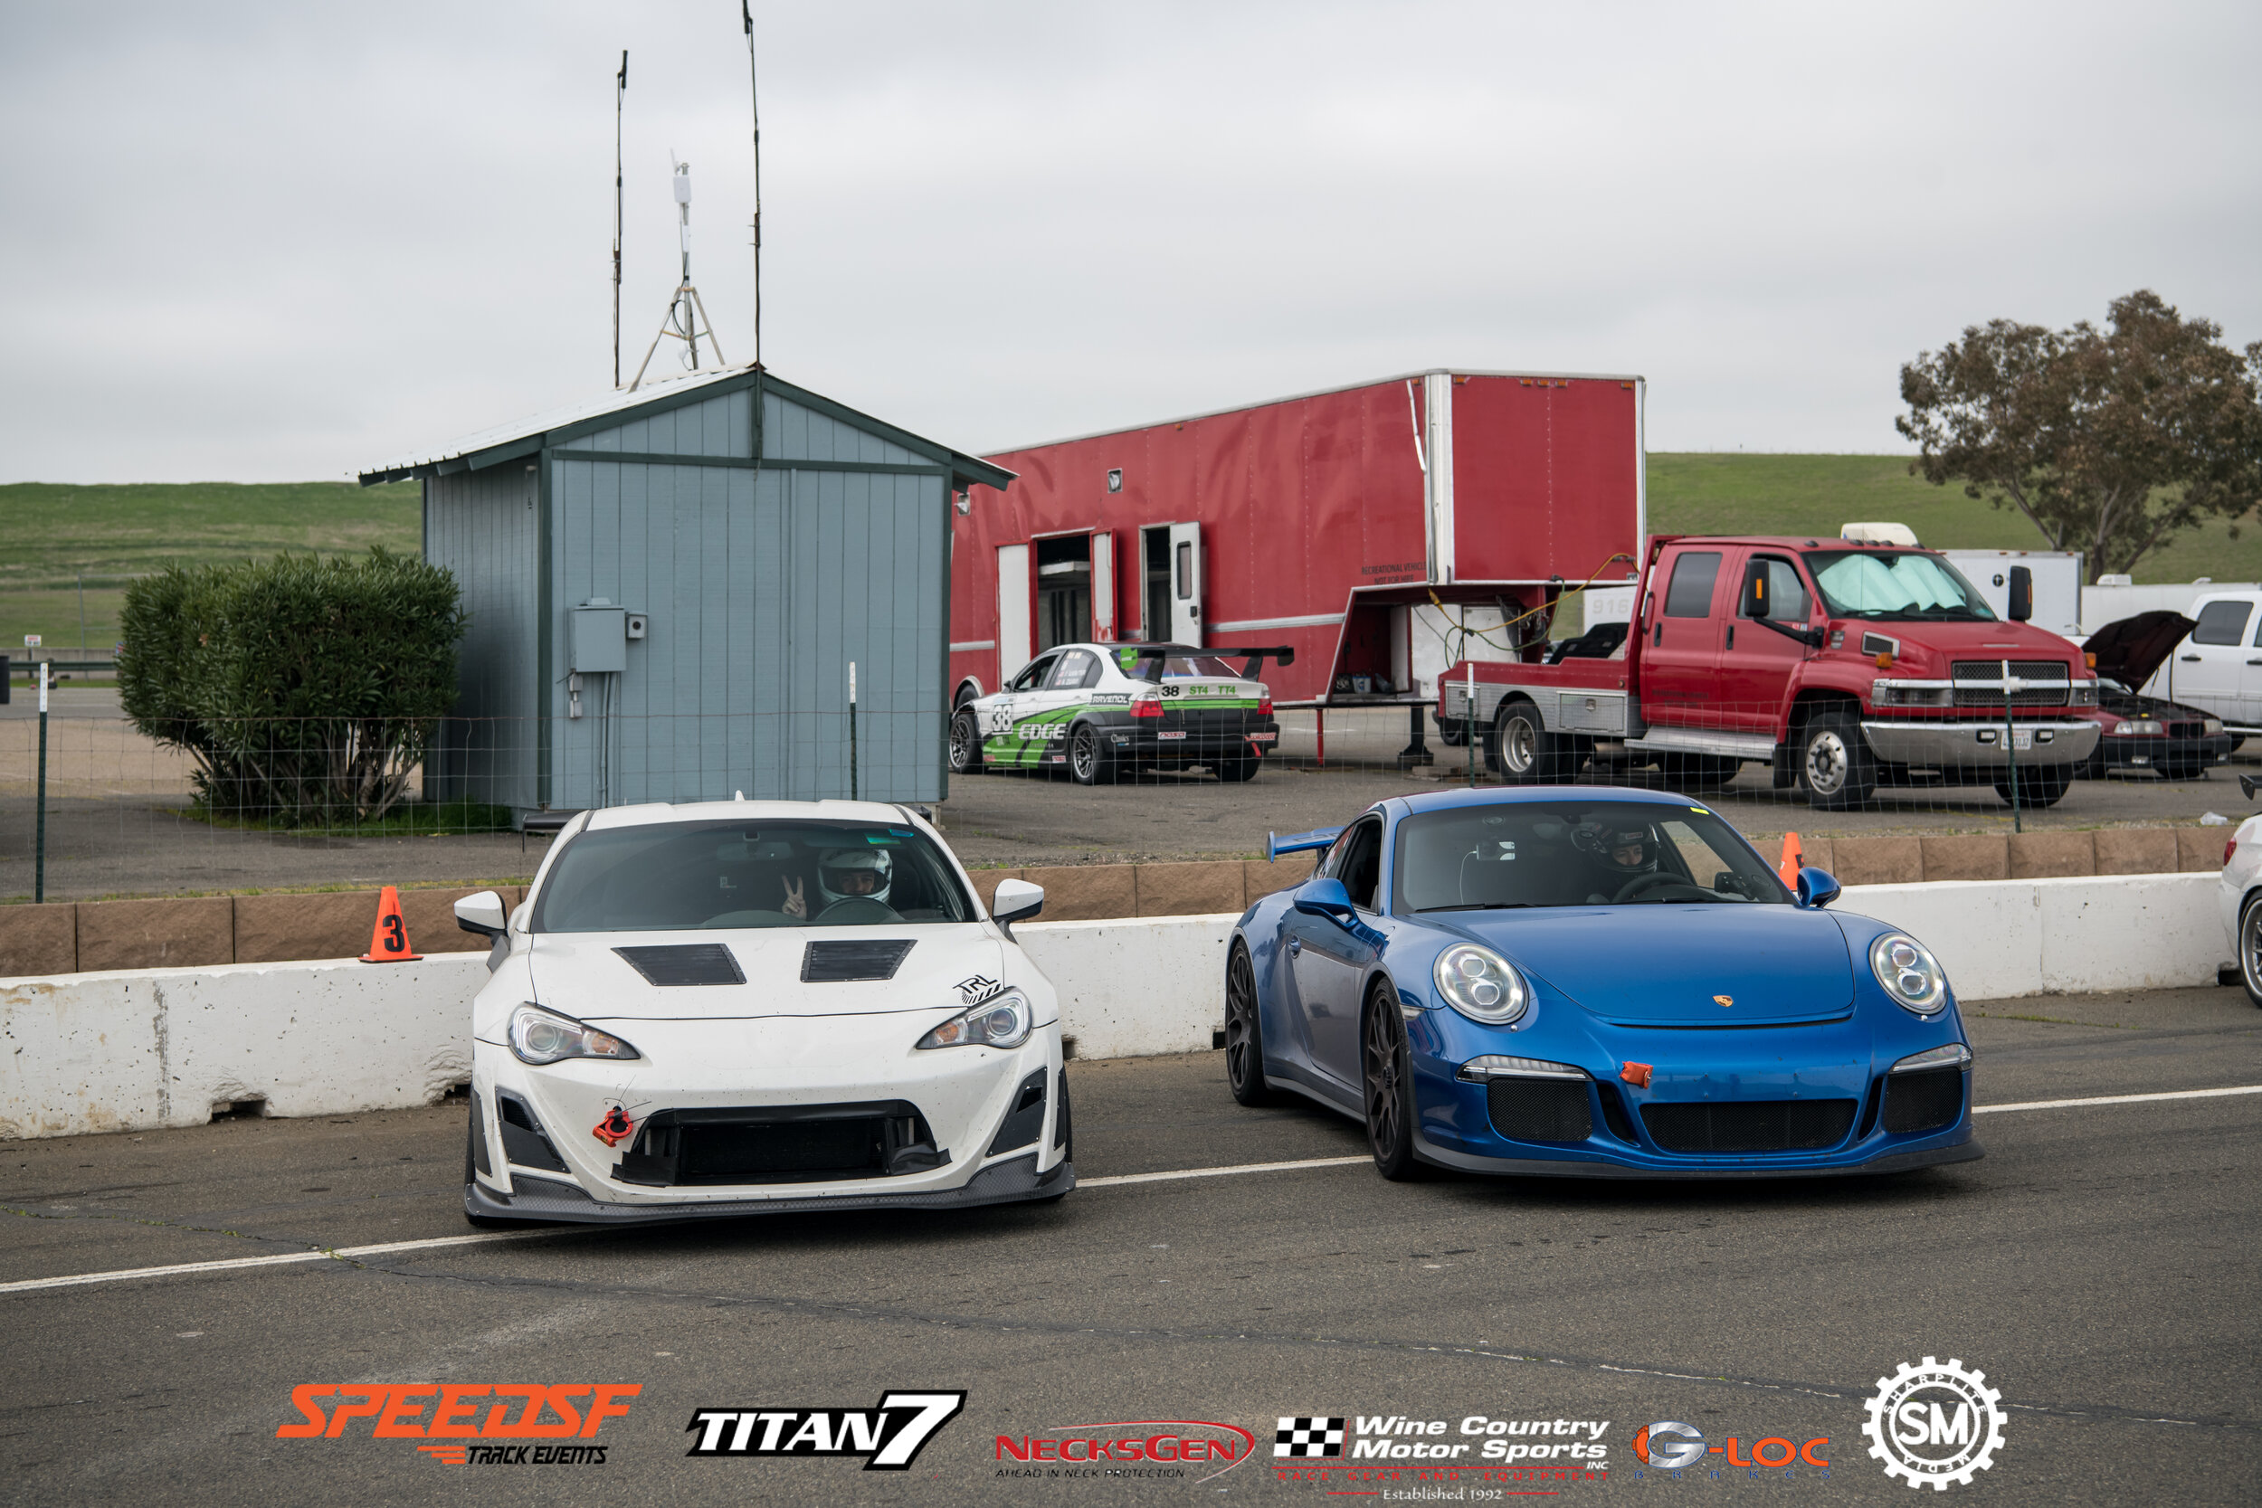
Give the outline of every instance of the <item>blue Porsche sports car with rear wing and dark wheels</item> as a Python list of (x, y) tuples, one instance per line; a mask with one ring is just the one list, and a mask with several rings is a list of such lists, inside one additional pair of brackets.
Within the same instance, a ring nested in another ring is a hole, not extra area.
[(1366, 1121), (1375, 1167), (1889, 1173), (1982, 1155), (1939, 961), (1825, 911), (1683, 796), (1382, 800), (1226, 956), (1226, 1078)]

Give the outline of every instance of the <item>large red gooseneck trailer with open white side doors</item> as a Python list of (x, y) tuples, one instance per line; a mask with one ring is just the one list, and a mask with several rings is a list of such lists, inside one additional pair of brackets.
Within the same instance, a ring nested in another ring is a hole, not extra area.
[(1278, 644), (1280, 703), (1409, 705), (1418, 744), (1464, 631), (1633, 581), (1642, 396), (1427, 371), (991, 454), (1016, 477), (957, 502), (952, 705), (1054, 644)]

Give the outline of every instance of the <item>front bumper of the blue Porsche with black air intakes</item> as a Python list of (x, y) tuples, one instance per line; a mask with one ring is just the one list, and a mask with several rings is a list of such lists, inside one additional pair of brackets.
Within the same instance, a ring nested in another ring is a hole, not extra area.
[[(1468, 1171), (1572, 1178), (1898, 1173), (1984, 1155), (1972, 1139), (1968, 1065), (1957, 1072), (1952, 1110), (1948, 1083), (1934, 1078), (1941, 1110), (1914, 1130), (1889, 1126), (1896, 1119), (1887, 1115), (1893, 1063), (1939, 1045), (1943, 1029), (1961, 1033), (1952, 1011), (1941, 1022), (1911, 1017), (1907, 1031), (1887, 1033), (1853, 1017), (1742, 1031), (1660, 1031), (1592, 1020), (1579, 1026), (1583, 1040), (1565, 1042), (1554, 1031), (1504, 1033), (1477, 1029), (1450, 1011), (1418, 1013), (1407, 1033), (1418, 1151)], [(1561, 1115), (1538, 1117), (1545, 1124), (1536, 1128), (1502, 1128), (1493, 1090), (1457, 1076), (1482, 1054), (1568, 1063), (1588, 1078), (1556, 1081), (1545, 1090)], [(1622, 1078), (1626, 1063), (1649, 1065), (1649, 1083)], [(1577, 1106), (1581, 1094), (1583, 1115)], [(1952, 1119), (1941, 1124), (1948, 1115)], [(1739, 1130), (1778, 1119), (1798, 1124), (1794, 1135), (1780, 1137), (1787, 1146), (1751, 1149), (1769, 1139), (1764, 1130), (1746, 1135), (1739, 1146)], [(1715, 1121), (1724, 1130), (1708, 1137)], [(1694, 1137), (1692, 1126), (1699, 1128)], [(1692, 1139), (1733, 1149), (1703, 1149)]]

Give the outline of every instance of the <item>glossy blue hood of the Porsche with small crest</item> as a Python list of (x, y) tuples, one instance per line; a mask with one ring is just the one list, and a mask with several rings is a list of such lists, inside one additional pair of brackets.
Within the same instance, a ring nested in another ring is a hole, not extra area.
[(1853, 1011), (1846, 936), (1821, 911), (1563, 907), (1484, 913), (1461, 927), (1622, 1026), (1825, 1022)]

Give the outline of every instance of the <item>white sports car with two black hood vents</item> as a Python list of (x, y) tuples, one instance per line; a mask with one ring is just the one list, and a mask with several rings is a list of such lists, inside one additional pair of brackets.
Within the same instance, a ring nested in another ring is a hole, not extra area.
[(905, 807), (719, 800), (577, 816), (470, 1008), (464, 1212), (676, 1221), (1054, 1201), (1061, 1013)]

